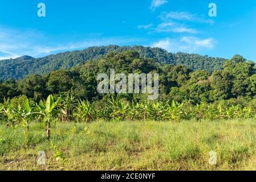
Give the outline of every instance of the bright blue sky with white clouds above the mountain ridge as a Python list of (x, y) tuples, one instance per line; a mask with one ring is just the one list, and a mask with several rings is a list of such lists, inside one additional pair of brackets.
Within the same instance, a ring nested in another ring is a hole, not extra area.
[(0, 59), (117, 44), (256, 61), (255, 30), (255, 0), (1, 0)]

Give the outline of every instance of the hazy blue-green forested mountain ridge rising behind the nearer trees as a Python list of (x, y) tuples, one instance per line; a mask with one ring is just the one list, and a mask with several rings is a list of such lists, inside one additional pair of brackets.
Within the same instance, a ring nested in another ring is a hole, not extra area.
[(184, 64), (193, 70), (205, 70), (213, 72), (222, 68), (226, 61), (222, 58), (200, 56), (188, 53), (169, 53), (161, 48), (143, 46), (103, 46), (89, 47), (82, 51), (58, 53), (35, 59), (30, 56), (23, 56), (17, 59), (0, 61), (0, 80), (19, 80), (29, 74), (43, 75), (62, 68), (72, 68), (75, 65), (88, 60), (100, 59), (107, 53), (120, 53), (123, 51), (136, 51), (141, 57), (152, 58), (161, 64)]

